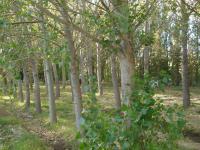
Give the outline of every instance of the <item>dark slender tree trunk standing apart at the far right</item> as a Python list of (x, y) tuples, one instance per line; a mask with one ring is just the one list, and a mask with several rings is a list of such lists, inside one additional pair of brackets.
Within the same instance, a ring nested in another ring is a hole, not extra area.
[(181, 5), (182, 13), (182, 61), (183, 61), (183, 106), (187, 108), (190, 106), (190, 90), (189, 90), (189, 68), (188, 68), (188, 20), (189, 14), (187, 14), (187, 8), (182, 2)]

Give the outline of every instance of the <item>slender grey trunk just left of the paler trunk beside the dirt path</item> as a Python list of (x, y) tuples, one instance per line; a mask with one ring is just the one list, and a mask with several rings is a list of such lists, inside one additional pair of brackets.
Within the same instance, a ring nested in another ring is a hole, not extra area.
[(37, 113), (41, 113), (41, 101), (40, 101), (40, 81), (38, 77), (38, 67), (35, 60), (31, 60), (32, 64), (32, 73), (33, 73), (33, 80), (34, 80), (34, 97), (35, 97), (35, 111)]

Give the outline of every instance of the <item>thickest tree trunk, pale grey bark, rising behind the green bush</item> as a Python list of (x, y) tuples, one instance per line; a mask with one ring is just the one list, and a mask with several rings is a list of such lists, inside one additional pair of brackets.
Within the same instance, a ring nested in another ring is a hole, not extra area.
[[(128, 1), (127, 0), (111, 0), (111, 3), (114, 7), (114, 12), (118, 13), (116, 17), (116, 23), (119, 25), (119, 38), (121, 40), (121, 49), (119, 52), (119, 62), (120, 62), (120, 71), (121, 71), (121, 90), (122, 90), (122, 103), (125, 105), (130, 105), (130, 92), (133, 87), (133, 82), (131, 78), (134, 75), (134, 51), (132, 43), (132, 35), (129, 34), (129, 27), (124, 26), (128, 23)], [(123, 21), (123, 23), (122, 23)], [(123, 24), (123, 25), (122, 25)]]

